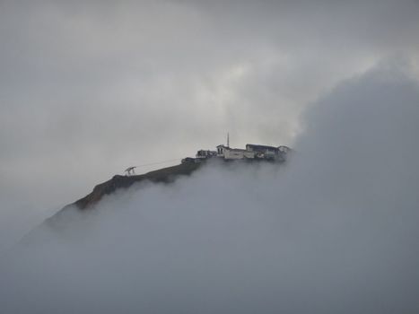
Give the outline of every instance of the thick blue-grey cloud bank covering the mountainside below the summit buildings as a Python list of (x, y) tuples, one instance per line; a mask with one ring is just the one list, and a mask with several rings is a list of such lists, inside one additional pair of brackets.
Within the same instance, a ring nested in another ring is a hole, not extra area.
[(4, 313), (417, 313), (419, 86), (310, 105), (284, 166), (213, 165), (69, 213), (3, 260)]

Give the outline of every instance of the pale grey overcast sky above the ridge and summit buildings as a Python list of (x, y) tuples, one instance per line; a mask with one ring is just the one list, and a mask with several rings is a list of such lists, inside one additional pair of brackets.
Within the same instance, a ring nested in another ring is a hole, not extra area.
[(388, 60), (417, 78), (418, 34), (415, 0), (1, 0), (0, 237), (227, 132), (292, 146), (342, 80)]

